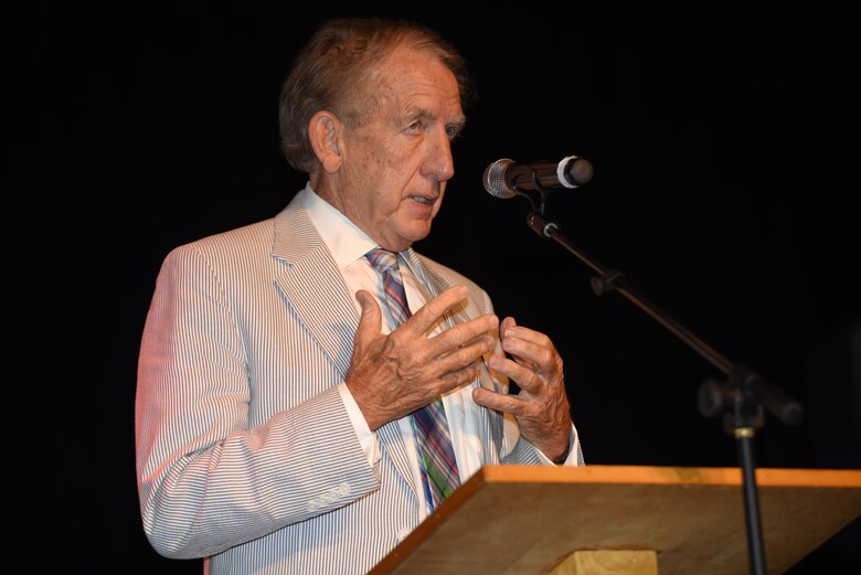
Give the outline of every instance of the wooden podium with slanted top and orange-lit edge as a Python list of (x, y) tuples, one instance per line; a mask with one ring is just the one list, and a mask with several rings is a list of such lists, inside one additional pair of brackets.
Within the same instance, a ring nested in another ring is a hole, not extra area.
[[(756, 470), (769, 574), (861, 515), (861, 471)], [(491, 466), (372, 575), (750, 573), (742, 470)]]

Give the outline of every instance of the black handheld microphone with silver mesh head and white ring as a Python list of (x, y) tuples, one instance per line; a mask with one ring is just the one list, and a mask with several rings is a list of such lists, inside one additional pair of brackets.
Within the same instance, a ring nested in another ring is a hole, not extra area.
[(577, 156), (563, 158), (559, 163), (521, 163), (503, 158), (485, 170), (485, 190), (497, 198), (508, 199), (521, 190), (578, 188), (592, 180), (592, 163)]

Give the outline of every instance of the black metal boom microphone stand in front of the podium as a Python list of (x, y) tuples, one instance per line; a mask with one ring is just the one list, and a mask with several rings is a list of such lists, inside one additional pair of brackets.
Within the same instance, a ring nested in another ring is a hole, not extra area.
[(532, 184), (540, 193), (539, 202), (532, 195), (525, 194), (518, 187), (514, 187), (518, 195), (523, 195), (532, 203), (532, 212), (527, 216), (527, 224), (539, 236), (553, 239), (595, 271), (595, 276), (589, 278), (589, 283), (596, 296), (602, 296), (610, 290), (618, 291), (726, 375), (725, 381), (705, 381), (700, 386), (698, 403), (700, 413), (705, 417), (714, 417), (722, 414), (724, 430), (735, 437), (738, 462), (743, 475), (745, 524), (751, 573), (754, 575), (766, 575), (753, 439), (755, 429), (764, 425), (763, 405), (786, 425), (796, 425), (801, 420), (804, 416), (802, 406), (788, 397), (783, 391), (759, 377), (758, 374), (751, 371), (746, 365), (733, 363), (721, 355), (702, 339), (648, 301), (625, 279), (625, 276), (619, 270), (604, 267), (565, 238), (560, 233), (559, 225), (544, 217), (546, 198), (553, 190), (542, 185), (534, 175)]

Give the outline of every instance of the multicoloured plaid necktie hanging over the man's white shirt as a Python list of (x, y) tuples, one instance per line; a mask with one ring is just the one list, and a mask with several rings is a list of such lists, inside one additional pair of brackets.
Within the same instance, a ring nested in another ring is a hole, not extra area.
[[(385, 300), (392, 312), (393, 328), (395, 328), (412, 316), (406, 305), (404, 284), (401, 281), (397, 254), (374, 248), (368, 252), (365, 257), (383, 276)], [(437, 397), (429, 405), (413, 412), (411, 423), (418, 446), (418, 464), (422, 468), (425, 498), (428, 509), (433, 511), (460, 486), (460, 475), (457, 471), (455, 451), (451, 448), (451, 437), (448, 433), (443, 400)]]

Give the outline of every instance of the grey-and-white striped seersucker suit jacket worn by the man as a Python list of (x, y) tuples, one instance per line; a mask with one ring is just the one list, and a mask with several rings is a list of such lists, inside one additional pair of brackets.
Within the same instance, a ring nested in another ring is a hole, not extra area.
[[(432, 295), (469, 287), (465, 317), (491, 311), (466, 277), (408, 257)], [(156, 551), (206, 557), (213, 575), (357, 574), (416, 526), (421, 493), (397, 424), (376, 430), (382, 458), (370, 467), (336, 387), (359, 322), (352, 298), (295, 201), (166, 257), (136, 397), (141, 519)], [(472, 385), (507, 388), (487, 371)], [(500, 414), (476, 413), (482, 465), (545, 461)]]

